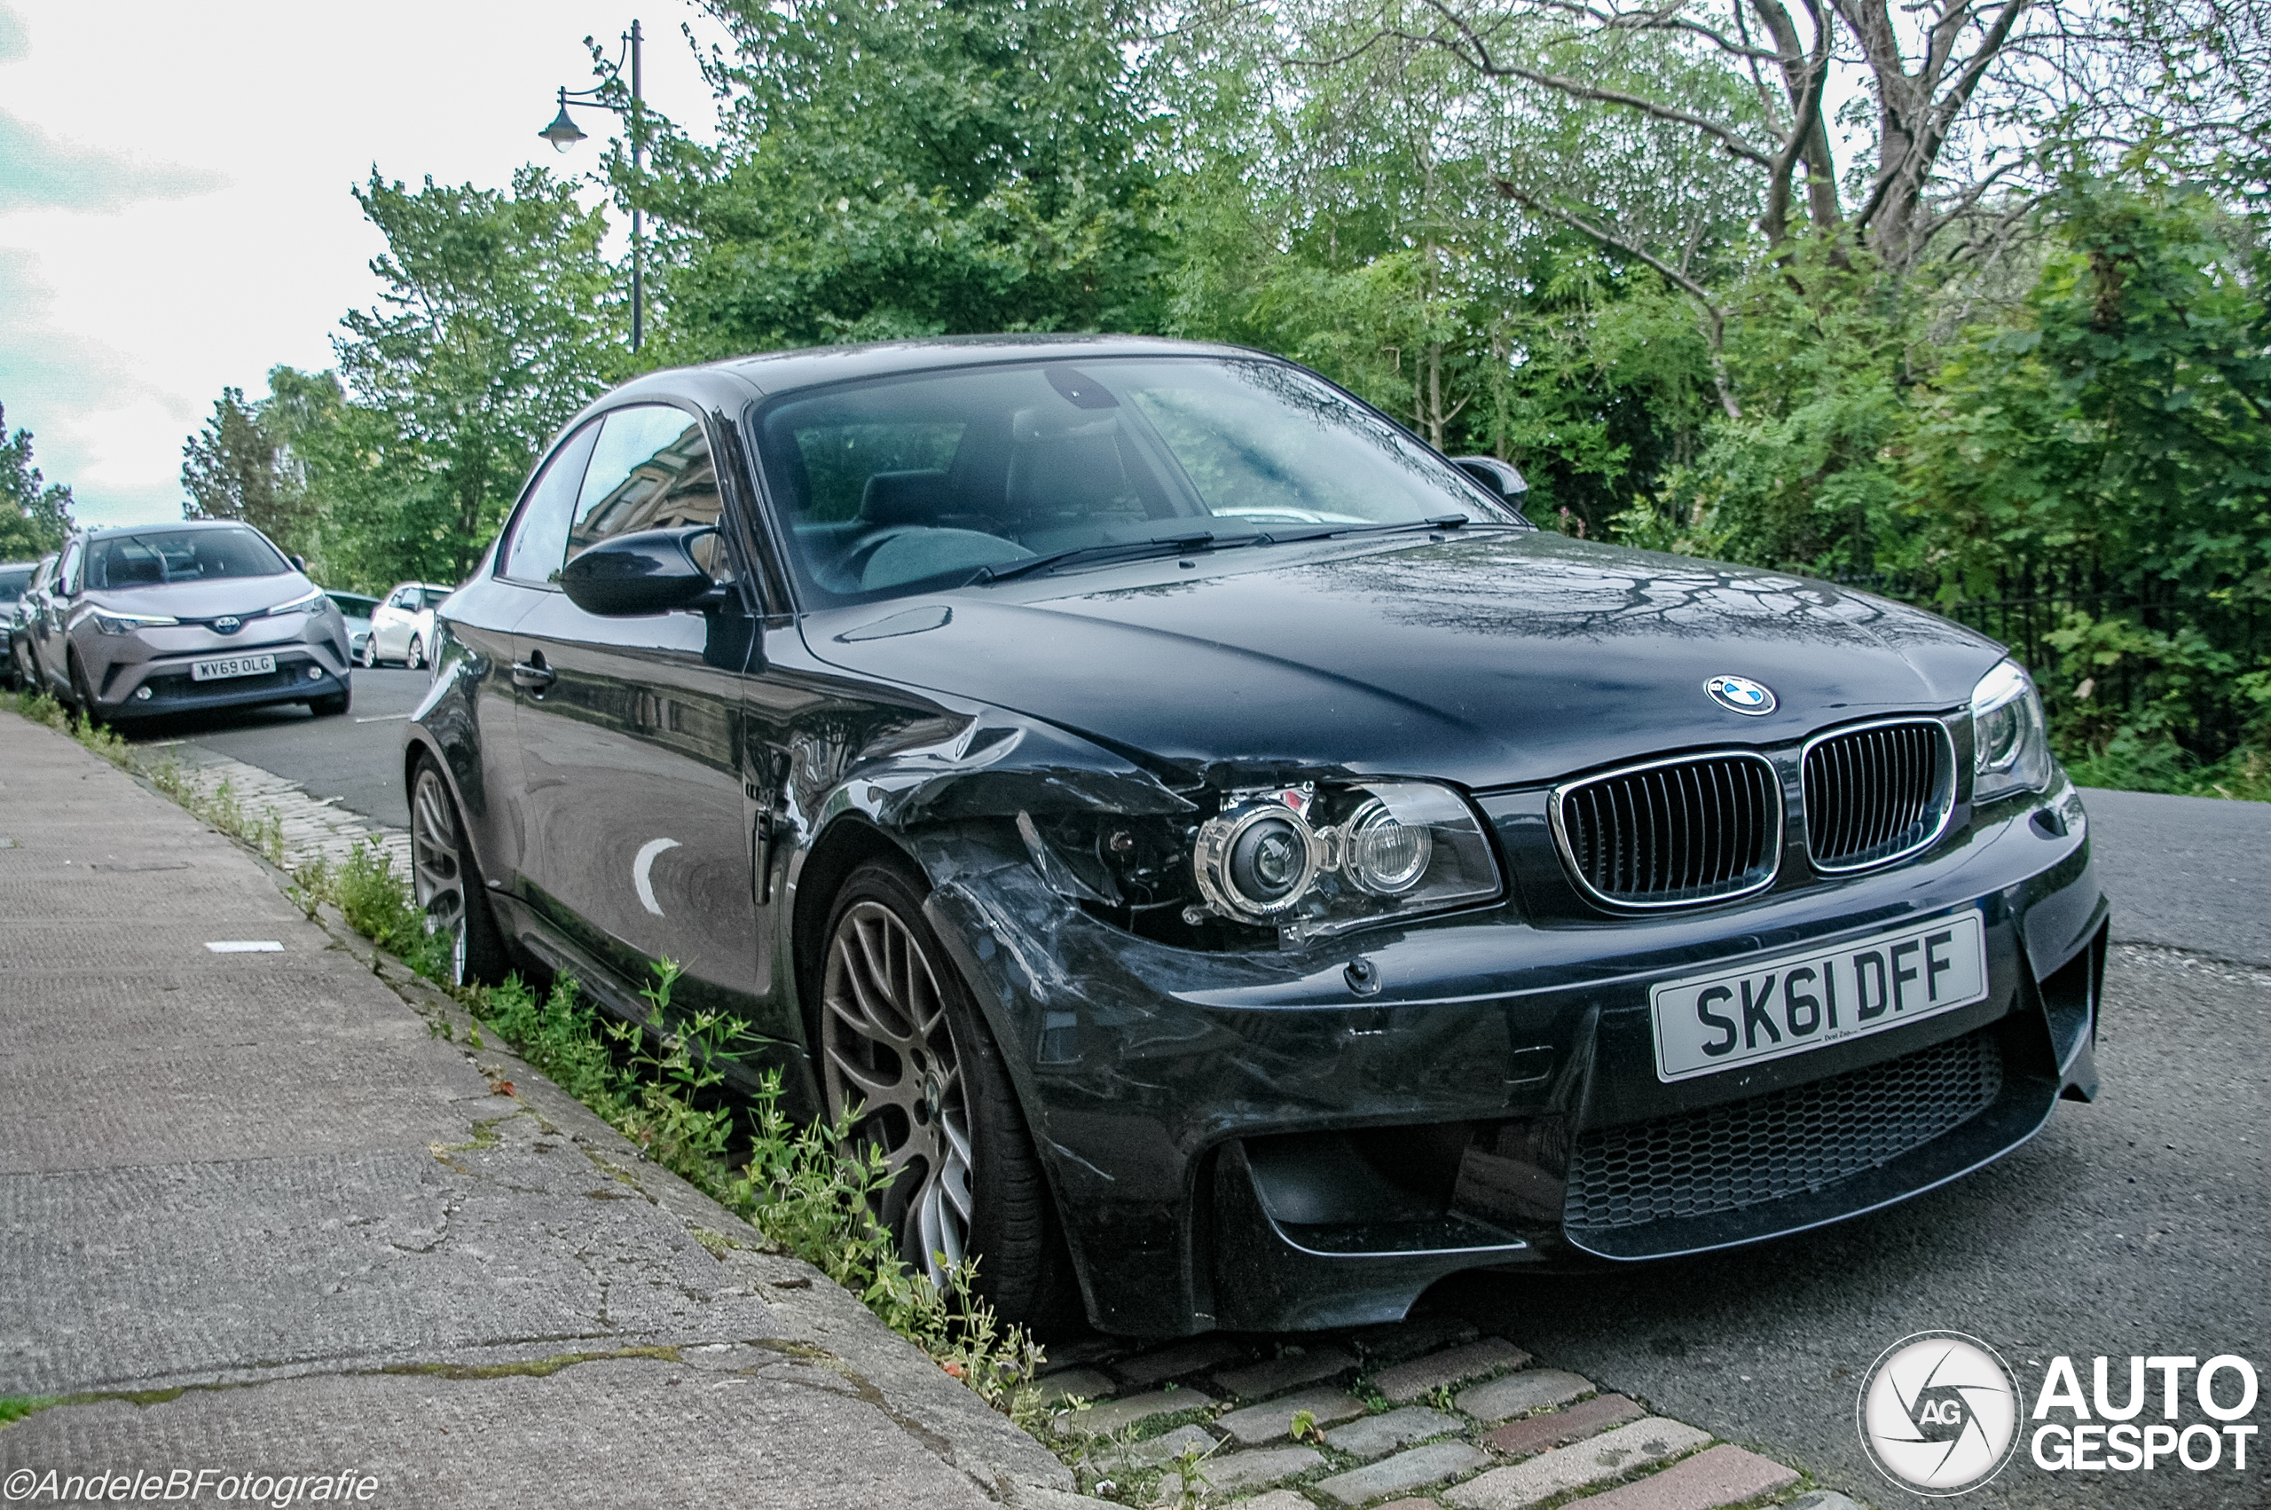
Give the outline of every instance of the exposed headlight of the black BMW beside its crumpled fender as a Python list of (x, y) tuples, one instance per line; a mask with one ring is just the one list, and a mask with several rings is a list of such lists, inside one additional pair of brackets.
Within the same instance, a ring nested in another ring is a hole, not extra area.
[(1288, 942), (1499, 895), (1481, 822), (1428, 781), (1229, 792), (1190, 867), (1206, 911)]

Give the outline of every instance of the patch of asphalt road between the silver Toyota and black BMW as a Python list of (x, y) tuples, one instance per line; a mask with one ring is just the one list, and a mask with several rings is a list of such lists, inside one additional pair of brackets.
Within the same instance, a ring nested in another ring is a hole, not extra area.
[(343, 808), (409, 829), (402, 792), (402, 724), (434, 686), (429, 672), (354, 668), (354, 706), (341, 718), (316, 718), (300, 704), (182, 715), (129, 731), (136, 745), (179, 740), (273, 770), (316, 797), (338, 797)]

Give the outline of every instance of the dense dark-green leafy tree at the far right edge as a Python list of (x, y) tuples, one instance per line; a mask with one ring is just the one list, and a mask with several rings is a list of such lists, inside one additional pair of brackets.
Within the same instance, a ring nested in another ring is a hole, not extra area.
[(2219, 758), (2271, 715), (2271, 259), (2196, 191), (2073, 175), (2053, 209), (2042, 277), (1921, 404), (1910, 518), (1946, 597), (2067, 599), (2069, 747)]

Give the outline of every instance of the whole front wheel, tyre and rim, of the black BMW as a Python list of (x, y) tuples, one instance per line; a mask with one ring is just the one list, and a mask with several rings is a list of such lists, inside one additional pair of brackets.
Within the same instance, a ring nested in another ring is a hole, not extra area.
[(1006, 1322), (1056, 1322), (1072, 1299), (1049, 1188), (1002, 1051), (922, 915), (908, 867), (861, 865), (829, 920), (820, 988), (829, 1117), (893, 1172), (879, 1217), (933, 1285), (981, 1258)]

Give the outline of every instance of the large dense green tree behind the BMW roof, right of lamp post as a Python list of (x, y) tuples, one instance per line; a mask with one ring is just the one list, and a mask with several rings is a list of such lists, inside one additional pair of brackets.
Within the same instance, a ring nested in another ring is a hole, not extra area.
[(659, 129), (661, 354), (1156, 329), (1122, 0), (713, 0), (722, 143)]

